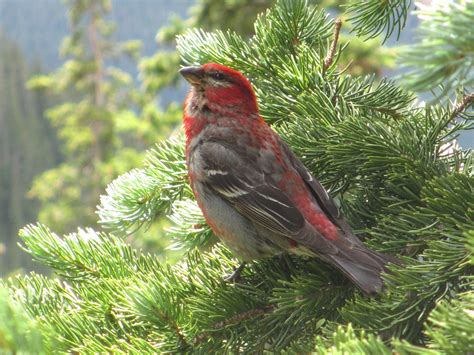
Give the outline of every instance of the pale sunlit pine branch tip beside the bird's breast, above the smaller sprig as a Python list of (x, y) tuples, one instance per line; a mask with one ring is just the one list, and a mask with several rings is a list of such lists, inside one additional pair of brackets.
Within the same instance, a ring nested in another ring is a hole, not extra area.
[(170, 138), (157, 145), (149, 151), (145, 168), (120, 176), (106, 192), (98, 206), (100, 224), (122, 234), (149, 225), (175, 200), (191, 195), (182, 140)]

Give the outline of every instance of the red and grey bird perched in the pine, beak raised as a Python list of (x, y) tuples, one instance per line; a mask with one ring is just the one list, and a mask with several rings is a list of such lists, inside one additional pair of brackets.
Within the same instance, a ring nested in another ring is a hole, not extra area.
[[(318, 257), (363, 293), (383, 289), (390, 255), (354, 235), (336, 203), (263, 120), (250, 81), (218, 63), (186, 66), (186, 165), (213, 233), (245, 263), (284, 253)], [(234, 276), (235, 276), (234, 275)]]

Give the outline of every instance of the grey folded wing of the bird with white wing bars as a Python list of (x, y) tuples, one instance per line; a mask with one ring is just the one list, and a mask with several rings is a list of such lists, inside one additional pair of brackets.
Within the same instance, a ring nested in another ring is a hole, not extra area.
[(274, 233), (291, 237), (305, 219), (280, 189), (264, 178), (255, 152), (235, 152), (219, 142), (202, 144), (198, 151), (205, 172), (202, 182), (242, 215)]

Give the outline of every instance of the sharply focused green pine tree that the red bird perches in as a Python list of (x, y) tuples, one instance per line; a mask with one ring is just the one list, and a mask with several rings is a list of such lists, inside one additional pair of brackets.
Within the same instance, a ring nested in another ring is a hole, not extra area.
[[(404, 1), (357, 4), (349, 11), (361, 36), (398, 33), (407, 11)], [(109, 185), (99, 208), (109, 233), (22, 230), (24, 249), (57, 277), (1, 286), (0, 344), (17, 350), (26, 339), (46, 352), (474, 351), (473, 159), (454, 144), (472, 127), (472, 96), (425, 107), (392, 81), (341, 72), (334, 27), (306, 1), (280, 0), (248, 40), (195, 29), (178, 38), (178, 50), (186, 64), (215, 61), (247, 75), (263, 117), (339, 200), (364, 243), (401, 258), (382, 294), (364, 297), (323, 262), (296, 256), (252, 263), (240, 282), (224, 282), (238, 261), (212, 245), (178, 136)], [(188, 251), (174, 266), (120, 238), (163, 211), (176, 222), (169, 237)], [(3, 322), (12, 313), (31, 322)]]

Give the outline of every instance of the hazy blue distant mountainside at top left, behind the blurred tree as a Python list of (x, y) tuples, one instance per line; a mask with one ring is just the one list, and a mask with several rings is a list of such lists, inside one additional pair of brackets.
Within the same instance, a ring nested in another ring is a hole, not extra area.
[[(113, 0), (110, 20), (117, 24), (116, 39), (138, 39), (143, 55), (158, 47), (157, 30), (172, 14), (186, 17), (194, 0)], [(14, 40), (29, 62), (39, 61), (45, 71), (61, 64), (59, 48), (68, 33), (63, 0), (0, 0), (0, 31)], [(134, 69), (134, 68), (132, 68)]]

